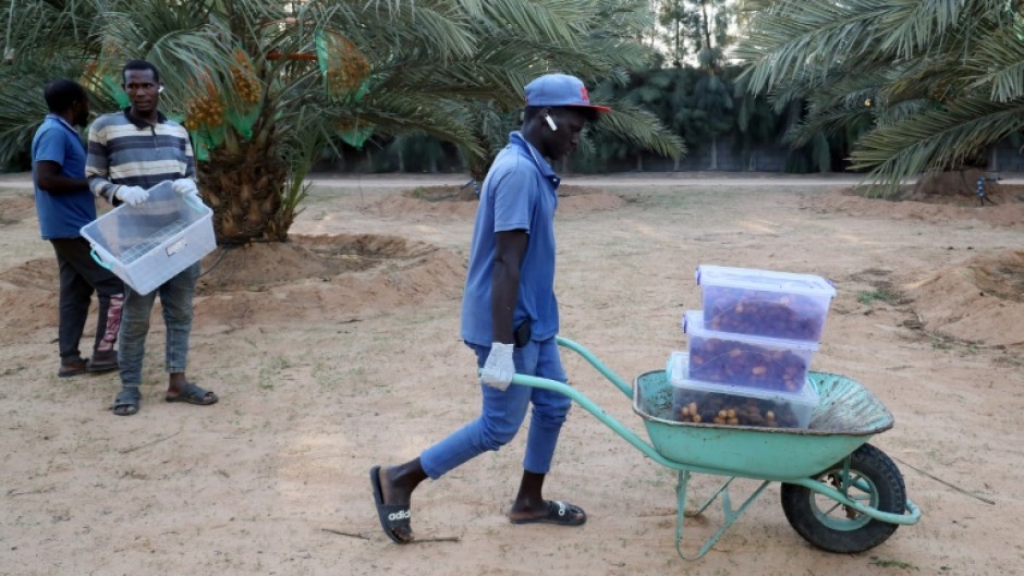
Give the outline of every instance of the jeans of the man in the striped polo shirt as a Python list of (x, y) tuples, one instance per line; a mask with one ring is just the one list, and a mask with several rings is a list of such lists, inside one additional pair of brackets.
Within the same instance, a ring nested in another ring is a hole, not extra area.
[(192, 332), (192, 296), (199, 278), (199, 262), (182, 270), (149, 294), (142, 295), (124, 286), (124, 312), (121, 317), (121, 345), (118, 364), (121, 385), (138, 387), (143, 382), (143, 356), (153, 303), (160, 295), (163, 326), (167, 328), (164, 367), (168, 373), (184, 372), (188, 367), (188, 334)]

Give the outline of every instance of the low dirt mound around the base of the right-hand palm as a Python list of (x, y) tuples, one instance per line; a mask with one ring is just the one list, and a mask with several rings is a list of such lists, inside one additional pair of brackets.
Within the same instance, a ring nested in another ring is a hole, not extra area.
[(806, 200), (805, 207), (818, 213), (919, 220), (932, 224), (976, 220), (997, 226), (1024, 226), (1024, 186), (1000, 186), (991, 196), (996, 206), (979, 206), (977, 196), (958, 194), (923, 196), (912, 192), (907, 197), (926, 198), (927, 201), (865, 198), (857, 188), (846, 187), (816, 195)]

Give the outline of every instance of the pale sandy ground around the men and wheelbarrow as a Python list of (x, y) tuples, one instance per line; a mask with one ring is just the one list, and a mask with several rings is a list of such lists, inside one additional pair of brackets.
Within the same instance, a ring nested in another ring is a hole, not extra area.
[[(812, 548), (779, 485), (703, 560), (675, 551), (675, 475), (583, 409), (546, 494), (577, 529), (512, 526), (525, 434), (416, 493), (392, 544), (367, 470), (414, 457), (478, 409), (459, 297), (472, 201), (416, 186), (464, 179), (320, 179), (293, 242), (217, 250), (196, 298), (190, 375), (212, 407), (161, 401), (155, 316), (142, 412), (108, 406), (113, 375), (58, 379), (57, 273), (31, 191), (0, 189), (0, 574), (708, 576), (1024, 572), (1024, 197), (999, 207), (866, 200), (852, 179), (566, 179), (558, 219), (562, 335), (623, 378), (685, 350), (700, 264), (817, 273), (832, 303), (813, 368), (895, 416), (873, 439), (924, 511), (860, 554)], [(577, 358), (573, 383), (642, 436), (631, 403)], [(697, 476), (708, 495), (718, 479)], [(755, 482), (739, 481), (734, 500)], [(693, 505), (693, 504), (691, 504)], [(720, 507), (690, 518), (693, 552)]]

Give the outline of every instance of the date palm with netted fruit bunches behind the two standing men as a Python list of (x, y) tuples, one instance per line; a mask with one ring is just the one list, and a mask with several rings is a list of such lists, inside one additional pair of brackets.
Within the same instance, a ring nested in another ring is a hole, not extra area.
[[(8, 0), (0, 155), (24, 149), (45, 77), (82, 78), (118, 106), (120, 65), (161, 71), (164, 108), (191, 131), (222, 243), (287, 238), (325, 146), (426, 134), (486, 170), (504, 134), (480, 119), (522, 106), (547, 71), (590, 83), (646, 58), (642, 0)], [(611, 32), (608, 32), (611, 30)], [(45, 73), (40, 72), (45, 71)], [(123, 103), (123, 102), (121, 102)], [(635, 121), (634, 121), (635, 120)], [(615, 131), (666, 155), (681, 140), (649, 115)]]

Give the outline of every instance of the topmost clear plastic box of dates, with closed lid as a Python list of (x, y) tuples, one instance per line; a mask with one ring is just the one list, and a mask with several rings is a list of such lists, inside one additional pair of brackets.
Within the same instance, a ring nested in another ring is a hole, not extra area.
[(812, 274), (697, 267), (705, 328), (790, 340), (821, 339), (836, 289)]

